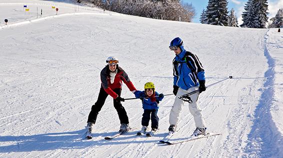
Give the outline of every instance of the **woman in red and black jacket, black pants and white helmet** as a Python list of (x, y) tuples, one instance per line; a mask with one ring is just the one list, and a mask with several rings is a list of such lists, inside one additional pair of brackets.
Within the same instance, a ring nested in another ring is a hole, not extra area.
[(108, 57), (106, 59), (107, 65), (100, 72), (101, 87), (98, 94), (97, 101), (91, 107), (91, 111), (88, 115), (87, 120), (87, 137), (91, 138), (92, 126), (95, 124), (98, 112), (101, 110), (102, 106), (108, 95), (113, 98), (114, 108), (116, 109), (119, 120), (120, 120), (120, 130), (119, 132), (125, 132), (129, 129), (128, 117), (124, 107), (121, 104), (124, 99), (120, 97), (122, 90), (122, 81), (126, 84), (128, 89), (134, 93), (136, 91), (135, 87), (129, 80), (126, 72), (118, 66), (118, 59), (115, 57)]

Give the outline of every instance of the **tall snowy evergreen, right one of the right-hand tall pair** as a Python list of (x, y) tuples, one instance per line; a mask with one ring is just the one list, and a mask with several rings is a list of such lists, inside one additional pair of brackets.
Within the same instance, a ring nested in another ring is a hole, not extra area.
[(268, 20), (267, 7), (267, 0), (254, 0), (255, 15), (253, 28), (265, 28), (266, 22)]

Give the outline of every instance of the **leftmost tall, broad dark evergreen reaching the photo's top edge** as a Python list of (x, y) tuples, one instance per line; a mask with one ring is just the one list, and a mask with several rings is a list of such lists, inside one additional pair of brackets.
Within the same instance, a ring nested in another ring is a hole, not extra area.
[(209, 0), (207, 8), (207, 23), (212, 25), (228, 25), (227, 0)]

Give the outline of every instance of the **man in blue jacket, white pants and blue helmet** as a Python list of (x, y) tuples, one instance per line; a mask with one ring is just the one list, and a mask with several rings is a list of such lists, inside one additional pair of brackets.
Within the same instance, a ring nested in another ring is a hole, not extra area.
[[(174, 51), (175, 58), (173, 59), (173, 94), (176, 96), (169, 116), (169, 131), (175, 132), (180, 112), (184, 101), (178, 97), (189, 92), (199, 90), (199, 93), (205, 91), (204, 70), (198, 57), (183, 47), (183, 41), (176, 37), (170, 42), (169, 49)], [(201, 110), (198, 108), (196, 101), (199, 93), (190, 95), (192, 103), (189, 103), (189, 111), (193, 116), (196, 129), (193, 132), (194, 136), (205, 134), (205, 123), (201, 116)]]

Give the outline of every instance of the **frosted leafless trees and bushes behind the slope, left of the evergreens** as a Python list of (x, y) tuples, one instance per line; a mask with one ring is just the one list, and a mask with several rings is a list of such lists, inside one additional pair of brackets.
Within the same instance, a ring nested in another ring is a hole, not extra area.
[(109, 11), (163, 20), (191, 22), (195, 15), (192, 4), (180, 0), (76, 0)]

